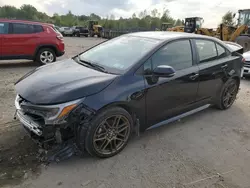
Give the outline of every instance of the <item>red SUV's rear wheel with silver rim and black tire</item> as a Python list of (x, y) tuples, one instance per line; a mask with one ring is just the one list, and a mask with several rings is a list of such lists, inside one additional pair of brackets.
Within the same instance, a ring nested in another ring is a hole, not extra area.
[[(42, 58), (42, 56), (49, 58), (47, 60), (47, 63), (44, 59), (46, 58)], [(51, 54), (51, 55), (50, 55)], [(53, 63), (56, 61), (56, 53), (53, 49), (51, 48), (42, 48), (38, 51), (37, 55), (36, 55), (36, 61), (40, 64), (40, 65), (46, 65), (48, 63)]]

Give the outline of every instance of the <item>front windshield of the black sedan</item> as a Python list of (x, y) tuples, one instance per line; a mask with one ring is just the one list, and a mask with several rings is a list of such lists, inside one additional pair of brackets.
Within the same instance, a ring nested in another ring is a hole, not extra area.
[(134, 65), (160, 40), (134, 36), (121, 36), (104, 42), (82, 53), (79, 58), (103, 66), (109, 72), (123, 73)]

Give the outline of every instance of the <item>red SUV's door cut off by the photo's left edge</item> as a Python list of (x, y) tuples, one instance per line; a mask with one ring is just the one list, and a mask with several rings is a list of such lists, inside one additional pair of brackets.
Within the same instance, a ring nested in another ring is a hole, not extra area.
[(8, 48), (9, 42), (7, 40), (9, 33), (9, 23), (0, 22), (0, 59), (6, 58), (10, 55), (10, 48)]

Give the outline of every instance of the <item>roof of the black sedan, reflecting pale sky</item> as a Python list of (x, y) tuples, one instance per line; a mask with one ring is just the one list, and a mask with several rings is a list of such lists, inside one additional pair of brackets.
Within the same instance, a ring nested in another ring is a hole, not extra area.
[(135, 37), (143, 37), (143, 38), (151, 38), (156, 40), (171, 40), (176, 38), (204, 38), (204, 39), (213, 39), (216, 40), (214, 37), (209, 37), (205, 35), (198, 35), (192, 33), (185, 33), (185, 32), (171, 32), (171, 31), (144, 31), (144, 32), (135, 32), (126, 34), (128, 36), (135, 36)]

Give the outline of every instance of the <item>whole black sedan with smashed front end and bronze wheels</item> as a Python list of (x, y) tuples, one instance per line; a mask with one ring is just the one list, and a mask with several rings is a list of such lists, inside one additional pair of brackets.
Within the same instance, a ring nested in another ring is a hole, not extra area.
[[(60, 160), (111, 157), (139, 133), (235, 101), (242, 56), (188, 33), (138, 32), (45, 65), (17, 81), (17, 117)], [(55, 149), (56, 148), (56, 149)], [(73, 148), (73, 149), (72, 149)]]

